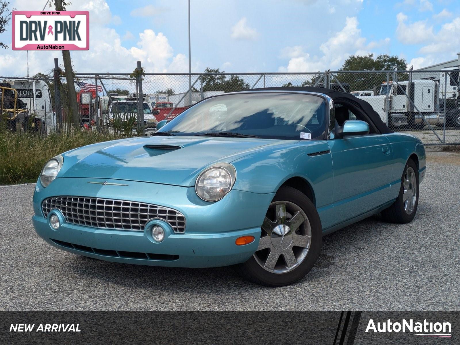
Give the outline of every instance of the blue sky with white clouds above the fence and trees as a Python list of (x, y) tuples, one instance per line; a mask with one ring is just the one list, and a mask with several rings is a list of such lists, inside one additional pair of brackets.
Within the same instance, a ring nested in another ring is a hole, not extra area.
[[(41, 10), (45, 0), (13, 0)], [(73, 0), (89, 10), (90, 50), (72, 52), (79, 72), (188, 69), (187, 0)], [(191, 0), (192, 70), (315, 72), (350, 54), (390, 54), (420, 68), (460, 52), (456, 0)], [(11, 31), (1, 35), (11, 42)], [(29, 72), (47, 71), (59, 52), (29, 52)], [(24, 75), (25, 52), (0, 51), (2, 75)]]

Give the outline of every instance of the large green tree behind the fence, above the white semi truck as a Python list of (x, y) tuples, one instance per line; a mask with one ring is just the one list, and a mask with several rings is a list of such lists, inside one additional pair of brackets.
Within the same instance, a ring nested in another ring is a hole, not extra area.
[[(378, 55), (374, 58), (374, 54), (365, 56), (350, 55), (342, 67), (341, 71), (392, 71), (406, 70), (406, 60), (395, 55), (386, 54)], [(372, 90), (374, 86), (379, 86), (382, 82), (386, 82), (386, 73), (338, 73), (337, 79), (341, 83), (350, 84), (351, 91)], [(390, 73), (389, 79), (392, 80), (393, 74)], [(398, 81), (408, 80), (407, 73), (398, 73)], [(334, 80), (333, 80), (334, 82)]]

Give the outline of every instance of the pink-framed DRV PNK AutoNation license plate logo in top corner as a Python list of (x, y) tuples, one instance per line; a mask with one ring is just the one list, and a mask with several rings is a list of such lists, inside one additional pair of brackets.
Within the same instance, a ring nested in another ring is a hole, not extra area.
[(88, 11), (13, 11), (13, 50), (88, 50)]

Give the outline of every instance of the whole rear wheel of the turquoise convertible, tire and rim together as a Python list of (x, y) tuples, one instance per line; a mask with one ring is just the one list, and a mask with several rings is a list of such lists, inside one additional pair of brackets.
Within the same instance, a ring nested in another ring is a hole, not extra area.
[(394, 204), (382, 211), (382, 218), (391, 223), (409, 223), (419, 204), (419, 171), (409, 159), (401, 178), (401, 189)]

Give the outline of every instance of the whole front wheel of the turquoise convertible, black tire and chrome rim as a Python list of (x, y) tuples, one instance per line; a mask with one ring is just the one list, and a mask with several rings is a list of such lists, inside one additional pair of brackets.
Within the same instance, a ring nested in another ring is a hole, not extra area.
[(281, 187), (261, 230), (257, 251), (237, 266), (244, 278), (279, 287), (298, 281), (311, 270), (321, 250), (322, 227), (316, 207), (303, 193)]

